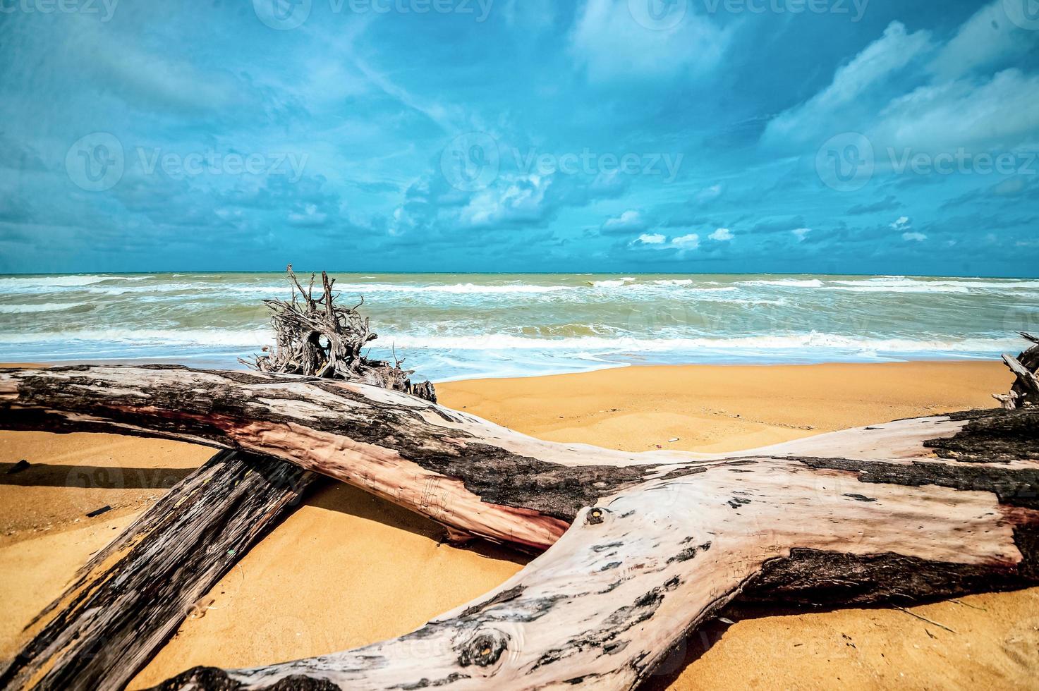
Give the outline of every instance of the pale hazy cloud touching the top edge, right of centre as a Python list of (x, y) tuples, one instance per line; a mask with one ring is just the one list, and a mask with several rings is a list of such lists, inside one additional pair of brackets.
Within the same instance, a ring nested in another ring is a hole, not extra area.
[(640, 25), (629, 0), (587, 0), (570, 34), (570, 52), (592, 81), (707, 73), (721, 61), (730, 32), (686, 12), (671, 28)]

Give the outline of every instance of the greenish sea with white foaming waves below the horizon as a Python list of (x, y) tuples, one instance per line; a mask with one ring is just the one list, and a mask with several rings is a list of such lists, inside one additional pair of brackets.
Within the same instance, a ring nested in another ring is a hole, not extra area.
[[(642, 364), (993, 358), (1039, 333), (1039, 280), (771, 274), (335, 273), (370, 356), (434, 381)], [(320, 282), (319, 282), (320, 283)], [(284, 273), (0, 276), (0, 362), (241, 368)]]

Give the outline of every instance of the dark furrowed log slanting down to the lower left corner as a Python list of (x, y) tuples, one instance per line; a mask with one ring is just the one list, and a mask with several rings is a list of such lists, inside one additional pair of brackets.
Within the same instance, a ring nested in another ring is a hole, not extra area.
[(220, 451), (98, 552), (36, 616), (0, 688), (124, 688), (319, 477), (276, 458)]

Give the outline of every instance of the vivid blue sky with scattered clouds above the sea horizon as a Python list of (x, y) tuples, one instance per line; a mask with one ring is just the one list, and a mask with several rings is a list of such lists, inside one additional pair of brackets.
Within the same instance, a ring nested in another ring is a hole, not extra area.
[(0, 0), (0, 272), (1039, 275), (1039, 1)]

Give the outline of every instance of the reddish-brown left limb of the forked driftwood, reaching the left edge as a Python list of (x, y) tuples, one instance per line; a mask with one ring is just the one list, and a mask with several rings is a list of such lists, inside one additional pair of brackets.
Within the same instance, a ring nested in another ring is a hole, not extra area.
[(582, 506), (654, 472), (636, 454), (542, 442), (406, 394), (316, 377), (0, 370), (0, 411), (8, 428), (122, 431), (276, 456), (460, 532), (535, 549), (555, 542)]

